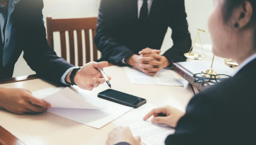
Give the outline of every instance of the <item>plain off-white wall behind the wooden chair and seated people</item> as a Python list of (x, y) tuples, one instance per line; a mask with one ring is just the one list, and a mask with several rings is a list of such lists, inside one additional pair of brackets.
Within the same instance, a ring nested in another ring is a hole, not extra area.
[[(46, 20), (46, 16), (52, 16), (53, 18), (96, 17), (98, 15), (99, 2), (100, 0), (44, 0), (44, 20)], [(187, 20), (192, 39), (196, 36), (197, 28), (208, 30), (207, 21), (213, 5), (213, 0), (185, 0)], [(170, 35), (171, 30), (169, 29), (162, 45), (163, 50), (172, 46)], [(202, 34), (201, 37), (202, 43), (211, 43), (209, 34)], [(58, 50), (56, 53), (60, 55)], [(15, 65), (13, 77), (29, 74), (35, 74), (35, 72), (20, 57)]]

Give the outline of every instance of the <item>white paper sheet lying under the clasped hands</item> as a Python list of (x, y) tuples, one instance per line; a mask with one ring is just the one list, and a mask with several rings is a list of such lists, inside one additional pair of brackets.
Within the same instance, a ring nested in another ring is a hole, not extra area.
[(166, 86), (183, 86), (176, 74), (172, 70), (162, 69), (155, 76), (148, 76), (147, 74), (132, 69), (130, 67), (124, 67), (126, 74), (128, 75), (130, 82), (133, 84), (156, 84)]

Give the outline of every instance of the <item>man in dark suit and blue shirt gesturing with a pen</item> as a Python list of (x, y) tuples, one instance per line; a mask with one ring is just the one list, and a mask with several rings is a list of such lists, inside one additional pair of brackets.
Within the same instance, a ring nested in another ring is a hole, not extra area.
[[(107, 62), (91, 62), (82, 68), (58, 57), (46, 40), (43, 0), (0, 0), (0, 79), (11, 78), (22, 51), (30, 68), (41, 78), (61, 85), (77, 84), (92, 90), (102, 84), (98, 69)], [(24, 89), (0, 88), (0, 108), (16, 114), (43, 112), (50, 104)]]

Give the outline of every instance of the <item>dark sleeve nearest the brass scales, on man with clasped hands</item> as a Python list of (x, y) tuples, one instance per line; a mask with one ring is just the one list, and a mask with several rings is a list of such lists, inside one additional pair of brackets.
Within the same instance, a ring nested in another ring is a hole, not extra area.
[(170, 17), (169, 27), (172, 29), (174, 45), (164, 53), (164, 56), (169, 62), (177, 63), (186, 61), (184, 53), (189, 51), (192, 42), (188, 31), (184, 0), (173, 0), (172, 5), (174, 6), (170, 13), (173, 16)]

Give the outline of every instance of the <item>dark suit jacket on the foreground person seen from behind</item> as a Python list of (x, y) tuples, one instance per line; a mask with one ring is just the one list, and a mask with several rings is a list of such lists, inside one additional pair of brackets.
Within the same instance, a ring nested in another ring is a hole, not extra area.
[(256, 59), (194, 96), (166, 145), (256, 145)]

